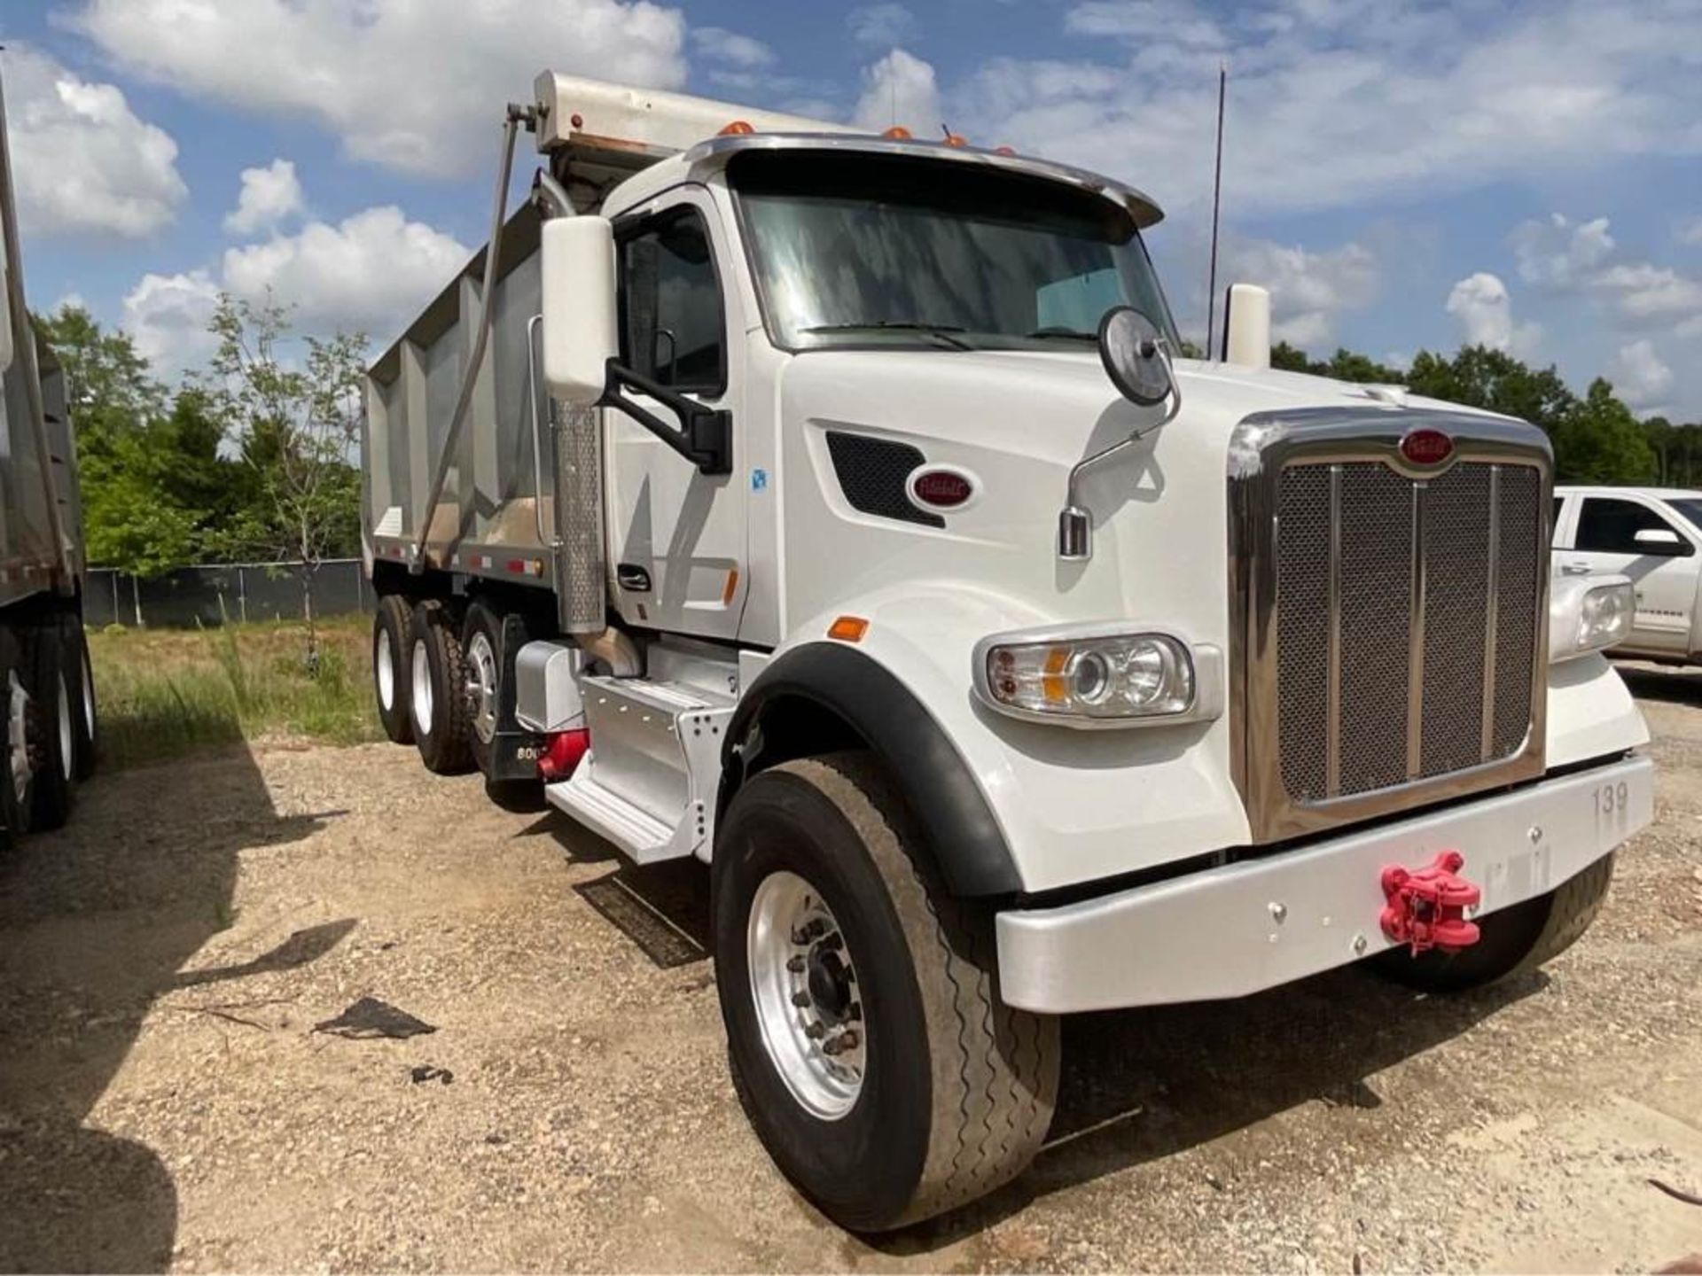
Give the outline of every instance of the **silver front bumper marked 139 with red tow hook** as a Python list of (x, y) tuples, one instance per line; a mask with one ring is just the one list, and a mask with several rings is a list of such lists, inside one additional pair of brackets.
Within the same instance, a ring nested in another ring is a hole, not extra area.
[(1387, 864), (1459, 851), (1482, 915), (1554, 890), (1651, 818), (1654, 766), (1627, 757), (1302, 851), (1001, 912), (1001, 995), (1048, 1014), (1242, 997), (1391, 948)]

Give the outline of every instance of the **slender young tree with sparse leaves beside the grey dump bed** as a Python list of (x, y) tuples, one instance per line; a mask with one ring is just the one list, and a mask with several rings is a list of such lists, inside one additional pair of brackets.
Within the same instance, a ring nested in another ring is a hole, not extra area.
[(223, 536), (233, 553), (298, 563), (308, 665), (318, 665), (313, 578), (325, 558), (359, 546), (361, 475), (352, 458), (364, 412), (366, 337), (300, 339), (267, 299), (221, 296), (208, 402), (226, 422), (247, 471), (247, 498)]

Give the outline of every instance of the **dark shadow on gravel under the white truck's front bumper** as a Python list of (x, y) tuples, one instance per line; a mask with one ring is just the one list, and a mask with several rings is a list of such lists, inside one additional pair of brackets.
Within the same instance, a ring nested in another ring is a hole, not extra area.
[(1421, 997), (1345, 968), (1232, 1002), (1071, 1016), (1047, 1145), (1016, 1182), (883, 1237), (928, 1254), (1030, 1201), (1210, 1143), (1305, 1102), (1379, 1108), (1382, 1068), (1469, 1031), (1545, 987), (1542, 973), (1457, 997)]

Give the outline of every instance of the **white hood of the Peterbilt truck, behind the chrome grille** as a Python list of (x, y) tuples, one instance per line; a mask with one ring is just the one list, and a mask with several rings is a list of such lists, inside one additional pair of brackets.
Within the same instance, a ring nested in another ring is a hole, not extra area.
[[(1071, 468), (1162, 419), (1122, 398), (1098, 350), (812, 350), (781, 373), (788, 601), (798, 616), (846, 589), (933, 575), (996, 590), (1038, 621), (1145, 618), (1227, 635), (1227, 475), (1251, 413), (1360, 408), (1409, 415), (1365, 386), (1198, 361), (1176, 366), (1181, 413), (1086, 471), (1089, 563), (1060, 563)], [(848, 461), (834, 436), (894, 444)], [(800, 451), (793, 451), (800, 449)], [(919, 458), (919, 459), (917, 459)], [(909, 512), (921, 463), (967, 473), (975, 497), (943, 519)], [(870, 493), (875, 492), (871, 497)], [(885, 504), (882, 504), (882, 500)], [(800, 533), (800, 534), (793, 534)], [(819, 551), (819, 553), (817, 553)], [(902, 560), (902, 563), (900, 563)]]

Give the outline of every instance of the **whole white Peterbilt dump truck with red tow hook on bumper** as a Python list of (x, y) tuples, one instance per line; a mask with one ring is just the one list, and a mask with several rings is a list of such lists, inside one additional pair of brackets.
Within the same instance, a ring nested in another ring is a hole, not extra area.
[(1178, 357), (1159, 218), (546, 73), (371, 369), (388, 733), (708, 863), (734, 1084), (851, 1228), (1023, 1171), (1060, 1016), (1508, 977), (1651, 818), (1542, 432), (1271, 371), (1258, 289)]

